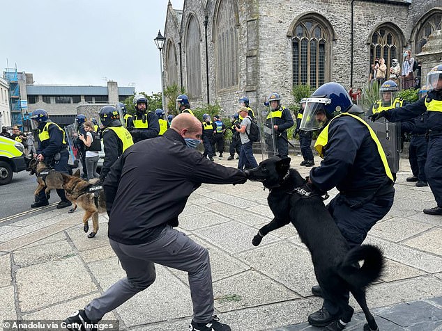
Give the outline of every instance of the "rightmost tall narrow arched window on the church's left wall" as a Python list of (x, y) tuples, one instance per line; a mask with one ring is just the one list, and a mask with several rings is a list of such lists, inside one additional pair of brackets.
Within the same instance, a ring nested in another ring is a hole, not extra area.
[(236, 9), (232, 0), (221, 0), (215, 22), (216, 82), (218, 89), (238, 85)]

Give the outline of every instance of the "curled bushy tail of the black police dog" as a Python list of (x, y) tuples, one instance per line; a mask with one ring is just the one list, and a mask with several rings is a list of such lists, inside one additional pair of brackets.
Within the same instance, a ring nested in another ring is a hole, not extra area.
[[(363, 261), (359, 267), (358, 261)], [(353, 248), (342, 261), (340, 275), (349, 284), (363, 288), (379, 279), (385, 268), (382, 250), (374, 245), (360, 245)]]

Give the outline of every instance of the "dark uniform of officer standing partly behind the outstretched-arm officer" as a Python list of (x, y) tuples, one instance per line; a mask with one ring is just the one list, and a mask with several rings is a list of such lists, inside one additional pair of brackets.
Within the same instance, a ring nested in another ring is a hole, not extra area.
[(418, 181), (427, 182), (425, 176), (425, 162), (427, 161), (427, 139), (425, 133), (427, 132), (427, 124), (424, 121), (424, 115), (420, 115), (414, 120), (409, 120), (401, 123), (401, 131), (409, 133), (411, 136), (409, 145), (409, 161), (411, 172), (413, 176), (418, 178)]

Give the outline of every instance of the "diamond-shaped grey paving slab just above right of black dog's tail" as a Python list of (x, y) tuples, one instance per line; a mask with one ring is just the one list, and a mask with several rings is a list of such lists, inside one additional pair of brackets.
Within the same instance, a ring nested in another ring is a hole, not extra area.
[(407, 218), (389, 218), (383, 222), (378, 222), (370, 230), (370, 235), (390, 241), (403, 241), (404, 239), (415, 236), (421, 232), (430, 229), (431, 225), (418, 223)]

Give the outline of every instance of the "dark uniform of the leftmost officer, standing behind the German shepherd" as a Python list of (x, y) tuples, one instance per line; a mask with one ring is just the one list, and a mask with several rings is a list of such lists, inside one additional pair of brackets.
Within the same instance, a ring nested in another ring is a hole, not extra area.
[[(37, 154), (42, 154), (43, 156), (45, 156), (45, 159), (43, 161), (48, 167), (52, 167), (56, 171), (68, 174), (69, 152), (66, 149), (66, 143), (63, 143), (64, 135), (59, 126), (55, 123), (49, 124), (47, 127), (49, 138), (45, 140), (40, 140), (40, 134), (42, 133), (48, 122), (50, 121), (41, 122), (40, 124), (38, 124), (39, 139)], [(54, 159), (54, 156), (56, 156), (57, 153), (60, 153), (60, 159), (58, 161)], [(66, 206), (71, 204), (70, 201), (66, 199), (66, 195), (63, 189), (56, 190), (56, 193), (59, 195), (61, 203), (66, 204)], [(47, 197), (44, 188), (42, 191), (40, 191), (40, 193), (38, 193), (38, 196), (36, 197), (36, 203), (43, 204), (46, 202)]]

